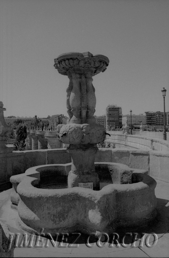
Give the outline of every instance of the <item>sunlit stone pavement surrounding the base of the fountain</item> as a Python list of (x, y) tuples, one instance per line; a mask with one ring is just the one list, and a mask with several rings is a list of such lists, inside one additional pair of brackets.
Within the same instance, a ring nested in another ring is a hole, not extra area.
[[(11, 189), (4, 190), (0, 193), (0, 220), (8, 225), (9, 230), (12, 233), (17, 233), (19, 236), (23, 235), (23, 231), (19, 228), (17, 223), (17, 211), (11, 209), (10, 201)], [(89, 238), (88, 247), (86, 244), (87, 235), (81, 235), (75, 244), (70, 244), (77, 238), (78, 235), (73, 235), (68, 237), (68, 243), (62, 241), (62, 238), (58, 237), (56, 246), (54, 247), (51, 241), (48, 242), (49, 247), (38, 247), (46, 245), (47, 239), (43, 238), (39, 242), (34, 238), (32, 240), (30, 247), (15, 247), (14, 257), (169, 257), (169, 184), (157, 181), (157, 187), (155, 188), (155, 195), (158, 198), (158, 219), (153, 226), (149, 228), (144, 228), (141, 231), (135, 230), (134, 233), (145, 233), (145, 236), (149, 236), (151, 233), (157, 234), (157, 241), (154, 242), (153, 235), (149, 237), (149, 245), (152, 247), (147, 247), (145, 241), (142, 240), (142, 246), (140, 247), (140, 241), (135, 242), (136, 247), (131, 247), (133, 241), (129, 238), (125, 238), (124, 244), (130, 244), (124, 247), (117, 242), (114, 242), (112, 246), (112, 239), (107, 243), (98, 242), (91, 236)], [(127, 231), (131, 232), (131, 231)], [(126, 232), (126, 233), (127, 233)], [(125, 231), (119, 228), (117, 232), (120, 236), (125, 234)], [(66, 237), (66, 236), (65, 236)], [(143, 239), (143, 238), (142, 238)], [(148, 239), (148, 238), (147, 238)], [(78, 244), (78, 246), (77, 246)], [(133, 243), (134, 244), (134, 243)], [(133, 246), (132, 244), (132, 246)], [(17, 244), (19, 245), (19, 244)], [(64, 247), (66, 245), (66, 247)], [(69, 246), (67, 246), (69, 245)], [(99, 247), (102, 245), (103, 247)]]

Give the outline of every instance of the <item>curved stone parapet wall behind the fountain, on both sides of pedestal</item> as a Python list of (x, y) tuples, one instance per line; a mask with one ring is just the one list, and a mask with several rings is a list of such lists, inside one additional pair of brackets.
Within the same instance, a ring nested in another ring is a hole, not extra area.
[[(12, 175), (25, 173), (28, 168), (47, 164), (71, 162), (66, 149), (27, 150), (0, 153), (0, 184), (9, 182)], [(146, 169), (153, 178), (169, 182), (169, 152), (141, 149), (100, 148), (95, 162), (115, 162), (130, 168)]]

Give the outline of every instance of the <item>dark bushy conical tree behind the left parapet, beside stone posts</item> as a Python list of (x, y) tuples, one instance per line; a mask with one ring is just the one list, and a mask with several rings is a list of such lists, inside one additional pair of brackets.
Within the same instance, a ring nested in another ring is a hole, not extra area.
[(17, 150), (25, 150), (26, 143), (25, 140), (27, 138), (27, 127), (26, 125), (19, 125), (16, 130), (16, 137), (14, 141), (14, 146)]

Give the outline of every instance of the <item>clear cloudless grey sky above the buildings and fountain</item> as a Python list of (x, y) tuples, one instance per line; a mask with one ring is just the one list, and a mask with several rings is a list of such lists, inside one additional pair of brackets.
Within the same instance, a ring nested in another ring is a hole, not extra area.
[[(65, 52), (101, 54), (95, 115), (169, 111), (168, 0), (0, 0), (0, 100), (4, 116), (64, 114), (69, 79), (54, 68)], [(68, 116), (68, 115), (67, 115)]]

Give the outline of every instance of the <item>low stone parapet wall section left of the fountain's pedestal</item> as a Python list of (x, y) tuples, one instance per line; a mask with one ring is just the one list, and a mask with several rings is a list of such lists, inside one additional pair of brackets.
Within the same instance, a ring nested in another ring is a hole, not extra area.
[(28, 168), (71, 162), (66, 149), (41, 149), (0, 153), (0, 184), (9, 182), (12, 175), (25, 173)]

